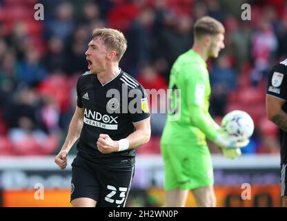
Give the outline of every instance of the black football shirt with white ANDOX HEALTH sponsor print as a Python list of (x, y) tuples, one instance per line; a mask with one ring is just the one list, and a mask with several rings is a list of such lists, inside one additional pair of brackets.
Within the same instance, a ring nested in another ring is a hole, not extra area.
[(135, 149), (104, 154), (97, 148), (100, 134), (121, 140), (135, 131), (133, 122), (150, 117), (146, 90), (122, 70), (101, 84), (96, 74), (86, 72), (77, 81), (77, 106), (83, 108), (83, 128), (77, 144), (78, 155), (112, 169), (121, 162), (135, 164)]

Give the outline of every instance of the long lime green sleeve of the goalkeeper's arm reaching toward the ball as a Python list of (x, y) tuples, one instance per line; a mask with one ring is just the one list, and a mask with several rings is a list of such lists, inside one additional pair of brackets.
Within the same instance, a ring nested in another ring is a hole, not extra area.
[(205, 70), (192, 67), (192, 72), (198, 74), (188, 77), (186, 81), (188, 111), (192, 124), (199, 128), (209, 140), (213, 141), (218, 135), (218, 125), (208, 113), (206, 87), (209, 81), (204, 79), (202, 71)]

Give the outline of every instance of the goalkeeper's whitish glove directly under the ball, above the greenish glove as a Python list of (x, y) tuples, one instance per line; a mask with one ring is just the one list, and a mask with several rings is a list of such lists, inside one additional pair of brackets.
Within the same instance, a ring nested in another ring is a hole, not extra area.
[(242, 148), (249, 144), (249, 139), (244, 141), (236, 141), (230, 139), (230, 137), (227, 137), (226, 135), (223, 135), (223, 133), (219, 133), (213, 142), (220, 148)]

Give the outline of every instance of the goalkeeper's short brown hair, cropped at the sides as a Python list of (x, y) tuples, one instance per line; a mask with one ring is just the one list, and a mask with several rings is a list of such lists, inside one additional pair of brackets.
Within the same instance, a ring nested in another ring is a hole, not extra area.
[(213, 19), (212, 17), (201, 17), (195, 22), (193, 26), (195, 38), (201, 38), (204, 35), (217, 35), (224, 34), (225, 28), (221, 22)]

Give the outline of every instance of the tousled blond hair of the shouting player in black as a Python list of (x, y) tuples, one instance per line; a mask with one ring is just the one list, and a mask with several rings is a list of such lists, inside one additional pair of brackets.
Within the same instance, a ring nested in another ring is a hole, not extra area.
[(127, 48), (127, 41), (122, 32), (112, 28), (96, 28), (92, 32), (91, 40), (97, 38), (109, 49), (115, 50), (118, 61), (123, 57)]

